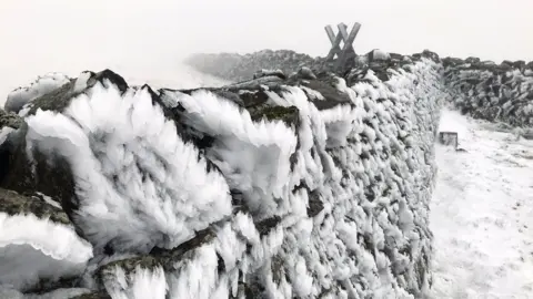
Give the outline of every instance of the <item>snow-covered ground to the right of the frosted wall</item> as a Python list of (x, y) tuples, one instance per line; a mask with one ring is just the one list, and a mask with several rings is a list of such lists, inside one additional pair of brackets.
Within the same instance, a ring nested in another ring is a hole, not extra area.
[(438, 146), (434, 298), (533, 298), (533, 141), (444, 111), (467, 152)]

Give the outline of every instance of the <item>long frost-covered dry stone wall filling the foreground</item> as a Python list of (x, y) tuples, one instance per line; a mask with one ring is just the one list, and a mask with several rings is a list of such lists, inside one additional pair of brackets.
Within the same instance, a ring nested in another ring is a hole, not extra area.
[(83, 72), (1, 115), (0, 187), (90, 244), (71, 297), (420, 298), (441, 72), (431, 52), (199, 90)]

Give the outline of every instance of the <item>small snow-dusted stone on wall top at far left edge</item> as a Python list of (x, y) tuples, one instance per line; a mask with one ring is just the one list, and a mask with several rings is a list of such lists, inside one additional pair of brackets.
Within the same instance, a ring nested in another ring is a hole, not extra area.
[(4, 110), (18, 113), (27, 103), (50, 93), (69, 82), (70, 79), (61, 73), (49, 73), (39, 76), (29, 86), (19, 87), (9, 93)]

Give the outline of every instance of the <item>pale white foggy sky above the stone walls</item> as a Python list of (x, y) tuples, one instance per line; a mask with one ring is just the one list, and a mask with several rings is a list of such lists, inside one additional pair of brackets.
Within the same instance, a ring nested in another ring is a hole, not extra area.
[(325, 24), (362, 23), (354, 47), (533, 60), (531, 0), (0, 0), (0, 103), (50, 71), (110, 68), (135, 83), (190, 85), (192, 52), (325, 55)]

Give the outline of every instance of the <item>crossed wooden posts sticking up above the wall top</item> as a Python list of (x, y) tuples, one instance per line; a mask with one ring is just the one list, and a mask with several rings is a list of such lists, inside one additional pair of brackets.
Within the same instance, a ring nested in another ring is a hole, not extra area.
[[(326, 25), (325, 33), (328, 33), (328, 38), (330, 38), (331, 42), (331, 50), (325, 58), (326, 61), (334, 61), (336, 55), (336, 63), (335, 68), (340, 68), (344, 64), (349, 56), (355, 55), (355, 50), (353, 50), (353, 41), (361, 29), (360, 23), (354, 23), (350, 34), (348, 34), (348, 27), (344, 23), (340, 23), (336, 25), (339, 28), (339, 33), (333, 33), (333, 29), (331, 25)], [(341, 41), (343, 42), (341, 49)]]

